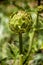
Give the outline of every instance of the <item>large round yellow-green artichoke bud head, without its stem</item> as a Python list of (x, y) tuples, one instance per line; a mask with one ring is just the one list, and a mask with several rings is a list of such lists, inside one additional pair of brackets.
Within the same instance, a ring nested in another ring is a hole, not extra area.
[(13, 32), (24, 33), (31, 28), (31, 24), (32, 19), (30, 13), (28, 14), (25, 11), (18, 11), (12, 18), (10, 18), (9, 27)]

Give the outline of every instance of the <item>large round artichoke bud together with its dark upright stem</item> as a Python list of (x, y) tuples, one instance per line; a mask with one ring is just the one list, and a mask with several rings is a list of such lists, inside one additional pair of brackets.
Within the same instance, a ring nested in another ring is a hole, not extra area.
[[(18, 11), (16, 14), (12, 15), (9, 22), (10, 29), (19, 35), (19, 52), (20, 55), (23, 54), (23, 43), (22, 34), (28, 32), (32, 27), (32, 18), (30, 13), (25, 11)], [(20, 61), (20, 64), (22, 61)], [(22, 64), (21, 64), (22, 65)]]

